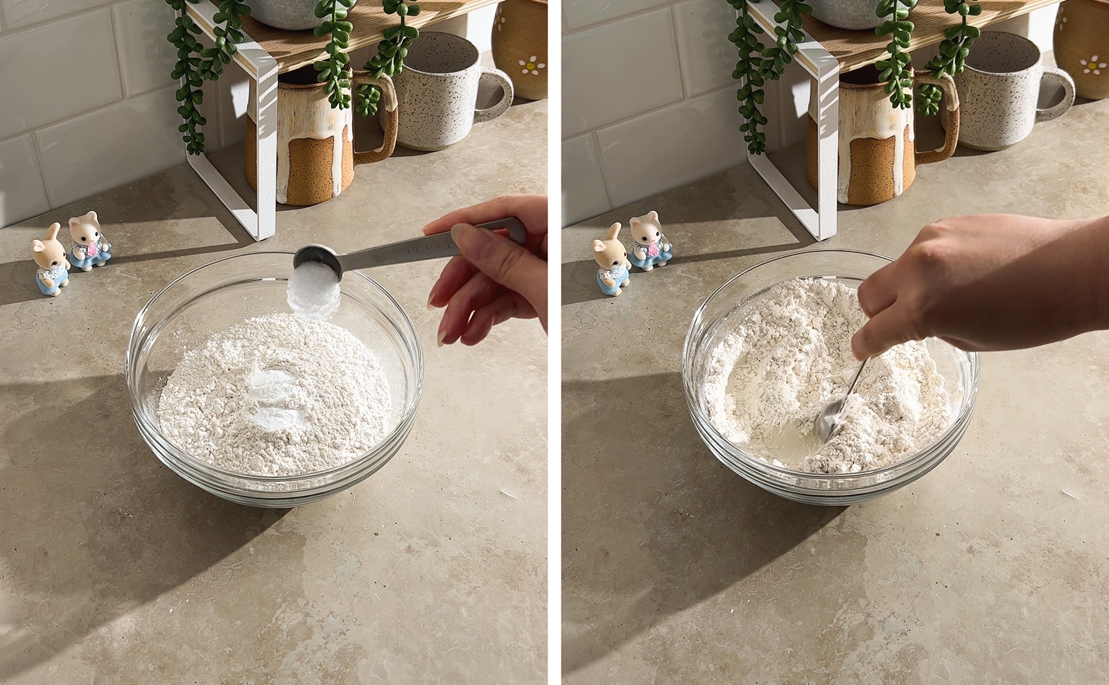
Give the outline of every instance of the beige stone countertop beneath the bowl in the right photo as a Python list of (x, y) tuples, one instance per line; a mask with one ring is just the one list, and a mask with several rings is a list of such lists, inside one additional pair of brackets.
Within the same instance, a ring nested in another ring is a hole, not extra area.
[[(846, 509), (716, 461), (680, 371), (694, 309), (770, 257), (895, 257), (957, 214), (1109, 214), (1107, 124), (1109, 100), (1081, 102), (1009, 150), (959, 150), (903, 196), (842, 211), (821, 245), (747, 166), (562, 232), (567, 683), (1105, 682), (1109, 334), (983, 355), (954, 453)], [(797, 152), (783, 156), (805, 183)], [(673, 260), (602, 296), (591, 241), (650, 209)]]

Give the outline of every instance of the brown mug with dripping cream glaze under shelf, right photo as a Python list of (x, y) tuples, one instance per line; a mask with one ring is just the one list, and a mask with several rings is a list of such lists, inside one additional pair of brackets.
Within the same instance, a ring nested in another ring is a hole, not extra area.
[[(893, 200), (916, 180), (916, 166), (940, 162), (955, 153), (959, 131), (959, 99), (955, 82), (944, 74), (915, 74), (919, 83), (939, 86), (946, 95), (952, 127), (940, 150), (916, 151), (913, 109), (895, 108), (875, 67), (864, 67), (840, 76), (840, 159), (836, 200), (848, 205), (875, 205)], [(813, 86), (815, 89), (815, 84)], [(808, 132), (805, 136), (805, 175), (816, 187), (816, 111), (820, 99), (810, 98)]]

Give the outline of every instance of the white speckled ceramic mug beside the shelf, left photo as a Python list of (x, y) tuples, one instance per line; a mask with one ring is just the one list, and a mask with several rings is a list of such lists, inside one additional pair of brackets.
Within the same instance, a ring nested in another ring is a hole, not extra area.
[[(442, 150), (469, 134), (476, 122), (496, 119), (512, 104), (508, 74), (478, 63), (477, 47), (452, 33), (420, 33), (393, 78), (400, 121), (397, 143), (410, 150)], [(503, 92), (497, 104), (477, 110), (478, 86), (491, 82)]]

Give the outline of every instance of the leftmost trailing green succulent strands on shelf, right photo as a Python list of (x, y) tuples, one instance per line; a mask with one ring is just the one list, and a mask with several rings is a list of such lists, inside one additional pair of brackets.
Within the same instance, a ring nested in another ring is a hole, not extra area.
[[(757, 1), (752, 0), (752, 2)], [(766, 134), (760, 131), (760, 127), (766, 125), (767, 120), (759, 111), (759, 105), (766, 96), (762, 86), (767, 80), (781, 79), (785, 67), (793, 61), (793, 55), (797, 52), (797, 41), (804, 40), (805, 34), (801, 30), (804, 18), (813, 10), (801, 0), (782, 0), (774, 16), (774, 21), (781, 24), (774, 29), (774, 44), (764, 48), (759, 34), (765, 34), (765, 31), (751, 17), (746, 0), (728, 0), (728, 2), (740, 12), (735, 20), (735, 30), (728, 37), (728, 40), (735, 44), (740, 55), (735, 71), (732, 72), (732, 78), (742, 82), (735, 93), (740, 102), (740, 114), (743, 115), (740, 131), (743, 132), (743, 140), (751, 154), (763, 154), (766, 152)]]

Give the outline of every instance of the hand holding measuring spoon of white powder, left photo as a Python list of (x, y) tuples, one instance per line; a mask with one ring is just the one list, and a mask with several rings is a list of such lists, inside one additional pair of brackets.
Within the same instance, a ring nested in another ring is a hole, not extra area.
[[(523, 223), (522, 246), (474, 227), (507, 216)], [(477, 345), (510, 318), (539, 317), (547, 330), (547, 196), (498, 197), (424, 227), (425, 235), (447, 231), (462, 254), (447, 263), (428, 295), (428, 308), (446, 307), (439, 345)]]

